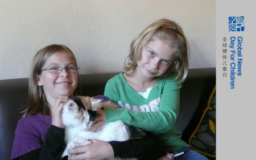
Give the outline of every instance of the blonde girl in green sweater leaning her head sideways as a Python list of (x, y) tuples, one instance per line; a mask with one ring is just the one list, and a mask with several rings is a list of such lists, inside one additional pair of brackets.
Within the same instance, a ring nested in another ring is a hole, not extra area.
[(121, 120), (155, 133), (168, 151), (160, 159), (174, 159), (177, 153), (184, 154), (176, 159), (207, 159), (181, 140), (176, 127), (188, 57), (187, 40), (179, 24), (156, 20), (131, 42), (125, 71), (105, 86), (104, 96), (122, 107), (105, 109), (106, 122)]

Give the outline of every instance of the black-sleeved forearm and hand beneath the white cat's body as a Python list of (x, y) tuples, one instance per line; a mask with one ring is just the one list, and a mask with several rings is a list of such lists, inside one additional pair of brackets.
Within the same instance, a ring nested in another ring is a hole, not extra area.
[(122, 142), (90, 141), (92, 142), (90, 145), (69, 150), (70, 154), (75, 154), (71, 155), (69, 159), (112, 159), (115, 157), (155, 160), (166, 154), (166, 149), (162, 142), (152, 134), (142, 139), (131, 139)]

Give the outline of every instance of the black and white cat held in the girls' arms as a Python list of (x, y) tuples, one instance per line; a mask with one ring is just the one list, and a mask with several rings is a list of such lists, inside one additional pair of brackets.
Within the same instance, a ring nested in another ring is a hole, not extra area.
[(65, 128), (65, 141), (67, 146), (62, 157), (69, 155), (69, 149), (89, 145), (88, 139), (102, 141), (126, 141), (129, 138), (143, 138), (146, 132), (139, 128), (128, 126), (122, 121), (105, 123), (102, 129), (94, 132), (93, 125), (96, 121), (99, 108), (118, 108), (118, 104), (111, 101), (101, 102), (101, 99), (90, 98), (91, 109), (85, 107), (79, 97), (69, 98), (63, 107), (62, 120)]

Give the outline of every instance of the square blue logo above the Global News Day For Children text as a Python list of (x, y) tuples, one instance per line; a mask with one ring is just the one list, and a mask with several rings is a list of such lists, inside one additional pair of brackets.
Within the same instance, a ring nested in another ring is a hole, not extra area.
[(244, 16), (229, 16), (229, 32), (245, 31)]

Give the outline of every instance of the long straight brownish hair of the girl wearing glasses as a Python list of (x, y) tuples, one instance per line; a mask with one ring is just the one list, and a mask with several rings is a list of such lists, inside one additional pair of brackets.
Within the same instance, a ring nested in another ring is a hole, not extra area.
[[(52, 44), (40, 49), (32, 60), (32, 70), (28, 84), (28, 101), (25, 109), (22, 111), (23, 117), (26, 115), (35, 115), (37, 113), (42, 113), (43, 115), (51, 115), (51, 110), (49, 108), (49, 104), (46, 101), (43, 87), (37, 85), (37, 76), (42, 73), (43, 66), (48, 58), (60, 51), (65, 51), (71, 54), (75, 65), (77, 65), (75, 55), (71, 49), (65, 45)], [(80, 85), (77, 85), (73, 94), (80, 94)]]

